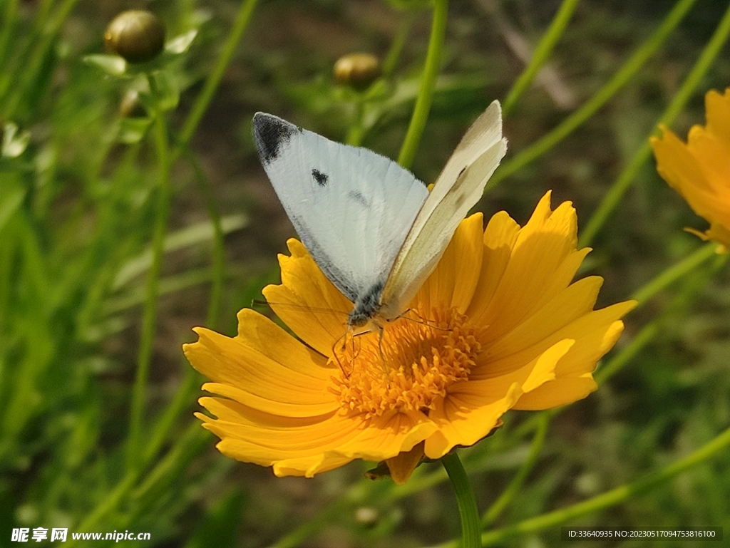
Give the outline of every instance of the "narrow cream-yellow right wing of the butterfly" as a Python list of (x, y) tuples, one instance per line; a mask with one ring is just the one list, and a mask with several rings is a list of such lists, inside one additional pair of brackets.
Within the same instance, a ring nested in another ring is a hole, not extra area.
[(398, 316), (415, 296), (506, 152), (502, 108), (493, 101), (466, 131), (418, 213), (385, 284), (383, 317)]

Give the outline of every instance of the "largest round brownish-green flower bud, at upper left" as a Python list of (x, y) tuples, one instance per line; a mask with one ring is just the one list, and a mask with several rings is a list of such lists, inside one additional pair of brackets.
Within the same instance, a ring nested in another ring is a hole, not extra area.
[(107, 51), (128, 63), (152, 61), (165, 45), (165, 28), (157, 15), (142, 9), (121, 12), (104, 32)]

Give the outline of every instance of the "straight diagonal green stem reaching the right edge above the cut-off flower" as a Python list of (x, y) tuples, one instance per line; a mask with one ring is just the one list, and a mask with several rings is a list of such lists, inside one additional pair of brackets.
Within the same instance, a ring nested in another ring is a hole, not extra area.
[[(723, 45), (727, 42), (728, 36), (730, 36), (730, 7), (726, 9), (725, 15), (723, 15), (718, 27), (715, 29), (715, 33), (712, 34), (712, 38), (707, 42), (707, 45), (699, 55), (697, 62), (694, 63), (682, 86), (675, 93), (674, 99), (672, 99), (669, 107), (666, 108), (664, 114), (657, 120), (654, 126), (655, 128), (659, 124), (669, 126), (677, 115), (679, 115), (687, 101), (691, 98), (696, 87), (702, 82), (704, 74), (712, 66), (712, 61), (715, 61), (715, 58), (720, 54)], [(652, 131), (652, 134), (654, 133), (656, 133), (656, 129)], [(636, 178), (639, 169), (648, 161), (650, 155), (651, 144), (648, 139), (645, 139), (642, 147), (634, 154), (631, 161), (626, 165), (626, 168), (621, 171), (621, 174), (613, 183), (610, 190), (603, 197), (596, 212), (593, 213), (593, 217), (588, 221), (588, 225), (585, 226), (583, 234), (580, 235), (580, 247), (585, 247), (593, 241), (593, 237), (596, 236), (613, 210), (618, 206), (624, 193), (631, 186), (631, 182)]]

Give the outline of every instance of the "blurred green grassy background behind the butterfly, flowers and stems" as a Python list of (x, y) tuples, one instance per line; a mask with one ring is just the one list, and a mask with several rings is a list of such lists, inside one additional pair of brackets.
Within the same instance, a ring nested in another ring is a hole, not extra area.
[[(435, 180), (469, 123), (493, 99), (504, 99), (560, 4), (451, 3), (441, 76), (413, 165), (420, 179)], [(676, 4), (580, 1), (547, 65), (505, 116), (507, 161), (610, 82)], [(277, 282), (276, 254), (294, 235), (253, 150), (253, 113), (272, 112), (343, 141), (361, 104), (362, 144), (397, 158), (431, 24), (428, 2), (261, 1), (188, 147), (185, 123), (242, 5), (0, 2), (0, 546), (12, 545), (10, 531), (19, 527), (67, 527), (69, 539), (72, 531), (145, 531), (151, 541), (123, 544), (191, 548), (418, 547), (458, 537), (456, 503), (437, 463), (420, 467), (404, 487), (362, 479), (372, 463), (358, 462), (315, 479), (277, 479), (267, 468), (224, 458), (192, 416), (203, 379), (180, 345), (195, 340), (196, 325), (233, 335), (236, 312)], [(159, 80), (174, 160), (172, 201), (141, 456), (130, 466), (130, 402), (164, 190), (145, 81), (107, 74), (85, 56), (103, 53), (104, 28), (132, 7), (155, 12), (169, 39), (197, 34)], [(722, 1), (694, 2), (596, 114), (504, 178), (477, 209), (488, 216), (506, 209), (525, 223), (553, 189), (553, 206), (572, 201), (585, 226), (645, 145), (726, 9)], [(366, 51), (384, 59), (400, 38), (399, 55), (371, 90), (334, 82), (341, 55)], [(704, 93), (730, 85), (729, 53), (720, 50), (672, 124), (683, 138), (704, 123)], [(142, 99), (133, 112), (120, 112), (130, 90)], [(683, 227), (707, 226), (658, 177), (653, 160), (632, 182), (591, 242), (581, 272), (604, 277), (601, 306), (626, 300), (698, 249), (701, 242)], [(223, 248), (212, 228), (218, 217)], [(216, 249), (225, 253), (220, 294), (211, 291), (221, 272)], [(596, 393), (550, 422), (537, 466), (490, 528), (632, 482), (727, 428), (729, 282), (729, 270), (708, 261), (626, 319), (618, 350), (650, 322), (656, 333)], [(210, 310), (211, 298), (218, 309)], [(496, 501), (526, 460), (533, 434), (520, 425), (529, 420), (528, 413), (508, 414), (501, 431), (466, 453), (480, 509)], [(727, 535), (729, 516), (730, 457), (721, 452), (564, 525), (724, 526)], [(552, 546), (559, 534), (553, 527), (503, 545)], [(85, 543), (91, 545), (79, 544)], [(622, 546), (644, 544), (697, 545), (675, 539)]]

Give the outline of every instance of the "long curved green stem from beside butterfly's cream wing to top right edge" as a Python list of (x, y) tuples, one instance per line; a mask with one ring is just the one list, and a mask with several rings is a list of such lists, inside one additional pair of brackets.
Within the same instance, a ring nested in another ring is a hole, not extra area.
[(559, 142), (569, 136), (575, 129), (579, 128), (588, 118), (593, 116), (596, 111), (601, 108), (606, 102), (615, 95), (618, 90), (623, 88), (634, 74), (639, 72), (639, 69), (644, 63), (650, 58), (650, 56), (661, 46), (662, 42), (669, 36), (675, 27), (684, 18), (686, 13), (692, 7), (696, 0), (680, 0), (669, 12), (669, 15), (664, 18), (659, 28), (644, 42), (641, 47), (631, 55), (629, 61), (621, 67), (614, 77), (609, 80), (598, 92), (591, 97), (583, 107), (577, 109), (572, 115), (567, 117), (558, 127), (550, 131), (549, 134), (539, 139), (531, 147), (526, 148), (522, 152), (518, 153), (512, 160), (502, 164), (502, 166), (493, 174), (491, 180), (487, 183), (487, 189), (491, 189), (499, 185), (504, 179), (509, 177), (511, 174), (522, 169), (527, 164), (536, 160), (543, 154), (551, 150)]

